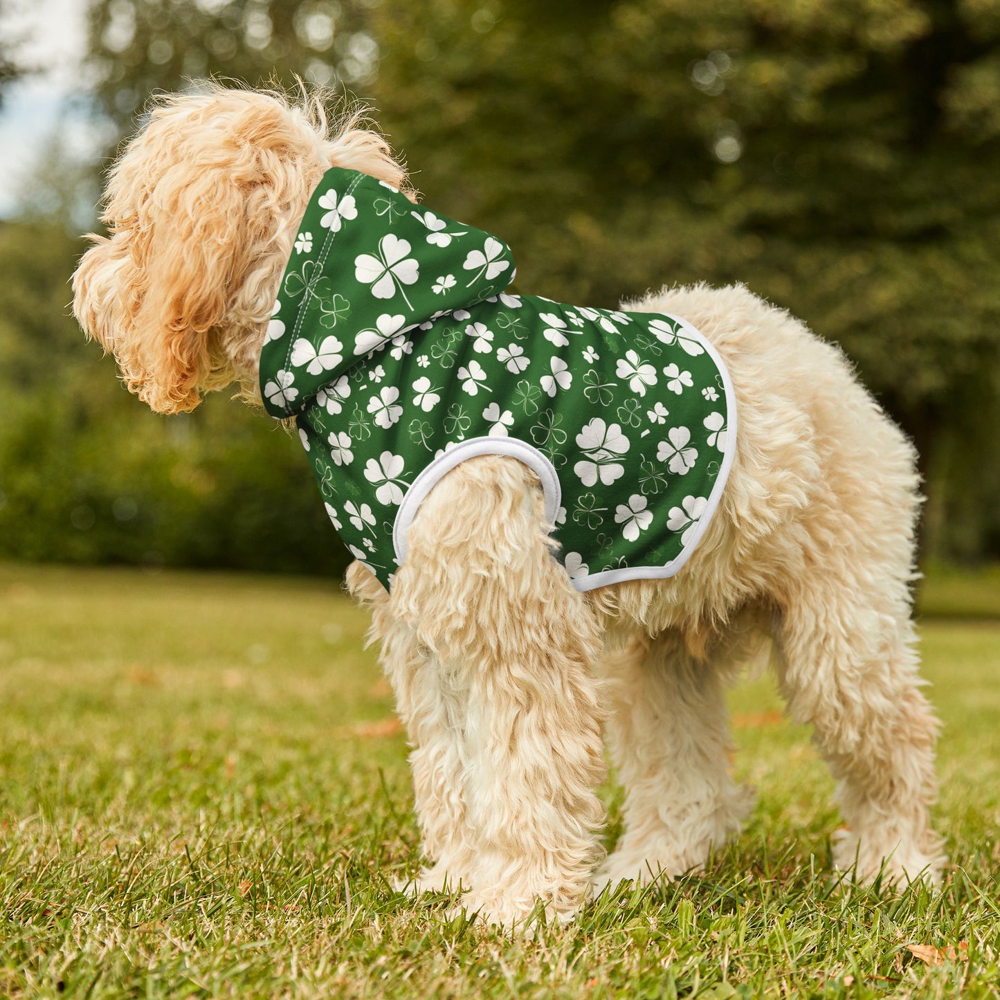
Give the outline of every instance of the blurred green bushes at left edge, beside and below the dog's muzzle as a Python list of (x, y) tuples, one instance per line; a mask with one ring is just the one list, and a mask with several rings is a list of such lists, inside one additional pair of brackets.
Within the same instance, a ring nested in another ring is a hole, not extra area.
[(221, 394), (157, 416), (84, 341), (79, 249), (61, 219), (0, 224), (0, 557), (340, 572), (297, 440)]

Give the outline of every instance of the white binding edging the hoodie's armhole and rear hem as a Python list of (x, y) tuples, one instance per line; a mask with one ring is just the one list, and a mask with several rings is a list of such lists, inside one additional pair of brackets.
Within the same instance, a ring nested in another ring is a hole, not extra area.
[[(651, 314), (654, 315), (654, 314)], [(688, 561), (691, 553), (695, 550), (702, 536), (708, 529), (708, 522), (711, 521), (722, 499), (722, 491), (725, 488), (729, 472), (733, 467), (733, 459), (736, 456), (736, 394), (733, 391), (733, 383), (729, 377), (729, 370), (726, 368), (719, 356), (719, 352), (705, 339), (699, 330), (696, 330), (687, 320), (671, 313), (656, 313), (658, 316), (668, 316), (670, 319), (680, 323), (694, 340), (697, 340), (708, 356), (715, 362), (722, 376), (723, 392), (726, 395), (726, 450), (722, 456), (722, 465), (719, 467), (719, 474), (715, 477), (715, 484), (708, 495), (708, 502), (705, 510), (698, 519), (698, 527), (694, 534), (688, 539), (687, 544), (681, 549), (676, 558), (672, 559), (665, 566), (624, 566), (621, 569), (606, 569), (600, 573), (591, 573), (589, 576), (580, 579), (570, 580), (574, 589), (585, 592), (595, 590), (597, 587), (606, 587), (611, 583), (621, 583), (625, 580), (664, 580), (673, 576)], [(555, 524), (556, 515), (559, 512), (560, 501), (562, 500), (562, 487), (559, 485), (559, 476), (555, 467), (537, 448), (528, 444), (520, 438), (512, 437), (475, 437), (468, 441), (449, 448), (443, 455), (439, 455), (426, 466), (416, 479), (413, 485), (406, 491), (399, 510), (396, 513), (396, 520), (392, 528), (392, 544), (396, 551), (396, 561), (400, 566), (406, 559), (407, 535), (410, 525), (417, 516), (420, 505), (427, 499), (430, 491), (437, 485), (442, 476), (451, 472), (455, 466), (460, 465), (468, 458), (476, 458), (479, 455), (509, 455), (523, 462), (533, 472), (535, 472), (542, 483), (542, 493), (545, 499), (545, 519), (549, 524)]]

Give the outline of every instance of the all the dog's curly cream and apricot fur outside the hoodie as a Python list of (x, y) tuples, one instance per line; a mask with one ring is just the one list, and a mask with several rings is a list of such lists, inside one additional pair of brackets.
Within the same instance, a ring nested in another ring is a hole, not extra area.
[[(331, 129), (317, 99), (213, 87), (156, 102), (111, 171), (109, 236), (92, 238), (73, 285), (84, 330), (154, 410), (233, 383), (259, 402), (278, 283), (329, 166), (406, 181), (381, 137), (357, 118)], [(728, 773), (723, 694), (768, 636), (789, 712), (839, 781), (836, 864), (866, 881), (936, 878), (913, 449), (836, 348), (742, 286), (623, 308), (686, 317), (735, 386), (732, 472), (677, 576), (577, 593), (534, 474), (505, 457), (470, 459), (434, 489), (391, 596), (360, 563), (348, 572), (413, 747), (428, 860), (413, 887), (460, 884), (469, 912), (512, 926), (538, 900), (568, 918), (595, 884), (697, 869), (751, 805)], [(627, 791), (607, 858), (605, 727)]]

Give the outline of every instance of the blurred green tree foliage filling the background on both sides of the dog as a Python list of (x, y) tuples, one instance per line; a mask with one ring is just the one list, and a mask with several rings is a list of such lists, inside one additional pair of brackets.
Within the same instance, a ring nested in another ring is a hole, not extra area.
[[(916, 439), (927, 551), (1000, 555), (996, 0), (97, 0), (88, 73), (119, 135), (151, 92), (206, 74), (350, 88), (432, 207), (512, 245), (525, 290), (609, 306), (665, 283), (745, 282), (841, 344)], [(95, 526), (113, 517), (138, 482), (150, 520), (109, 521), (107, 538), (134, 530), (170, 561), (246, 565), (257, 533), (281, 565), (336, 562), (303, 541), (322, 509), (293, 442), (223, 401), (186, 422), (143, 413), (65, 315), (42, 318), (43, 301), (68, 298), (43, 280), (68, 274), (65, 245), (3, 236), (24, 283), (0, 292), (16, 307), (0, 382), (25, 416), (0, 449), (21, 448), (23, 465), (59, 442), (44, 468), (76, 470), (62, 497), (83, 496), (92, 470), (91, 499), (46, 514), (63, 535), (46, 548), (39, 531), (38, 552), (75, 539), (79, 558), (138, 558), (66, 527), (81, 506)], [(58, 401), (42, 357), (58, 358)], [(41, 496), (12, 492), (15, 467), (0, 454), (8, 524), (12, 503), (23, 514)], [(248, 513), (261, 497), (266, 516)]]

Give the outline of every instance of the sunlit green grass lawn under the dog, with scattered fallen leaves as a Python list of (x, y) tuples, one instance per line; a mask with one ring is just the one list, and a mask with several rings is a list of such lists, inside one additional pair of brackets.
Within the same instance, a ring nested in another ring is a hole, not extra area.
[(0, 565), (0, 996), (1000, 996), (1000, 620), (926, 617), (956, 580), (921, 626), (942, 891), (838, 884), (831, 781), (764, 680), (732, 697), (743, 835), (524, 941), (393, 890), (406, 747), (335, 584)]

